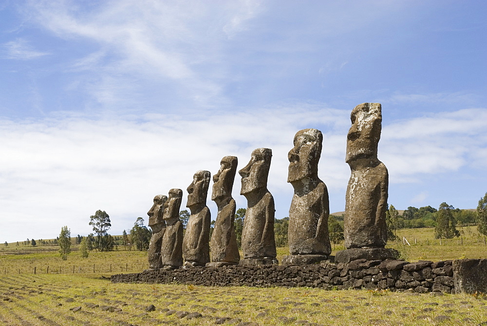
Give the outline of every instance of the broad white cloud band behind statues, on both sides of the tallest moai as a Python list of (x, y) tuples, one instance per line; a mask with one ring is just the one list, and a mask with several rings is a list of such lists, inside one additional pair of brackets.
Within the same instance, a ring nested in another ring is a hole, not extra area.
[[(154, 195), (174, 187), (186, 189), (196, 170), (215, 173), (225, 155), (237, 156), (242, 167), (257, 147), (273, 150), (269, 190), (276, 199), (276, 216), (287, 216), (292, 196), (286, 182), (287, 153), (296, 131), (305, 127), (323, 132), (319, 176), (328, 186), (332, 210), (340, 211), (333, 207), (343, 200), (337, 194), (344, 193), (350, 176), (344, 163), (349, 111), (297, 107), (242, 109), (192, 119), (147, 114), (115, 120), (58, 115), (40, 122), (0, 121), (0, 216), (11, 226), (8, 234), (0, 230), (0, 238), (48, 238), (63, 225), (73, 234), (87, 234), (88, 217), (97, 209), (107, 211), (112, 229), (121, 232), (136, 217), (146, 218)], [(480, 128), (480, 112), (467, 112), (437, 114), (450, 125), (463, 116), (464, 132), (438, 129), (428, 139), (412, 133), (390, 137), (397, 127), (423, 126), (421, 118), (385, 125), (379, 159), (390, 171), (390, 183), (467, 169), (468, 158), (487, 145), (487, 139), (470, 133)], [(239, 180), (237, 176), (234, 197), (244, 207)], [(214, 209), (210, 200), (208, 206)]]

